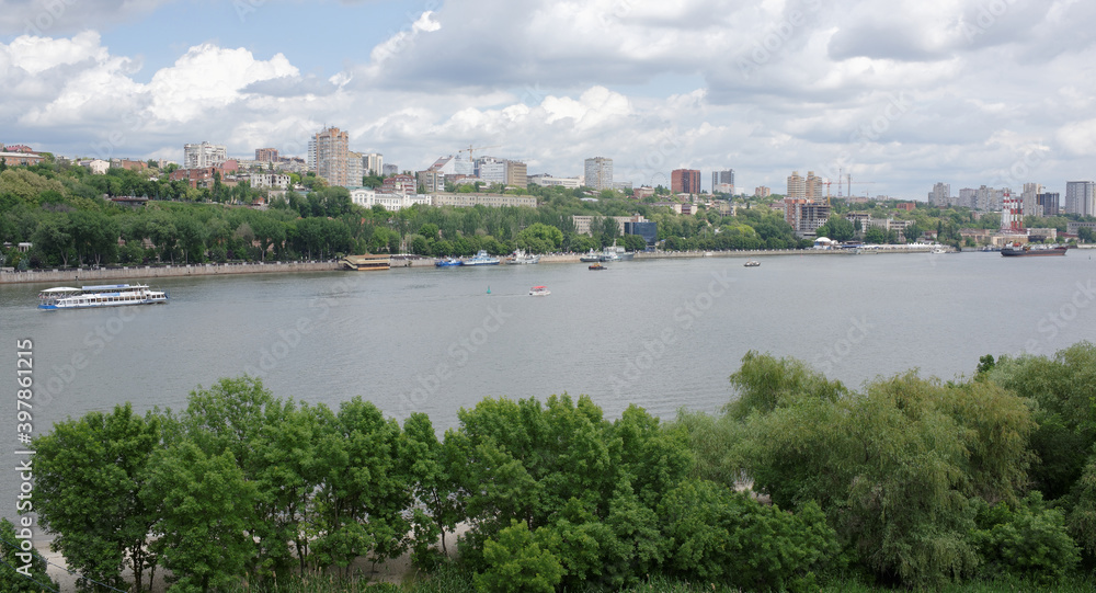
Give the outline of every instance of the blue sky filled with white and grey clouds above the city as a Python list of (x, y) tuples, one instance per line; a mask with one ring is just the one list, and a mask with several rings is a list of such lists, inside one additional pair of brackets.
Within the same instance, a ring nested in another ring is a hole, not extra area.
[(1064, 192), (1096, 178), (1094, 22), (1081, 0), (0, 0), (0, 142), (178, 161), (336, 126), (402, 169), (471, 145), (637, 185)]

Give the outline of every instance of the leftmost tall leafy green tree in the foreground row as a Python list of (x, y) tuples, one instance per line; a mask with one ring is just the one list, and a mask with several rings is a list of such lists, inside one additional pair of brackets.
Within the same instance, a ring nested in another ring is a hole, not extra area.
[(128, 403), (58, 422), (35, 440), (35, 511), (69, 567), (118, 588), (128, 567), (138, 590), (146, 572), (151, 586), (158, 558), (147, 536), (157, 509), (142, 494), (161, 443), (160, 418), (141, 418)]

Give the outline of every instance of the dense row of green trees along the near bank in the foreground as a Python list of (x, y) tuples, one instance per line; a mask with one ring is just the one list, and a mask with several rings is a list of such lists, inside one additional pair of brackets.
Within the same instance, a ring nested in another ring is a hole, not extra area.
[(138, 591), (157, 570), (172, 591), (224, 591), (404, 552), (429, 572), (458, 526), (481, 591), (1092, 574), (1093, 344), (859, 390), (751, 352), (730, 381), (717, 414), (487, 398), (438, 437), (422, 413), (401, 425), (361, 398), (330, 409), (221, 379), (179, 413), (55, 424), (34, 442), (33, 511), (69, 567), (119, 589), (129, 569)]

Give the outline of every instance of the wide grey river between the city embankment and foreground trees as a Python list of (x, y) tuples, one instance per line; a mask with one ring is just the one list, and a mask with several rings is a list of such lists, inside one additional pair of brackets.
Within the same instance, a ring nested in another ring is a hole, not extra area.
[[(877, 375), (970, 375), (983, 354), (1053, 354), (1096, 337), (1096, 262), (996, 253), (872, 254), (407, 269), (162, 278), (168, 305), (39, 311), (48, 285), (0, 285), (15, 432), (16, 339), (33, 342), (33, 429), (109, 411), (185, 407), (220, 377), (332, 408), (354, 396), (404, 419), (487, 396), (587, 394), (608, 418), (717, 411), (750, 350), (858, 387)], [(528, 296), (547, 285), (548, 297)], [(15, 435), (11, 451), (20, 447)], [(12, 475), (14, 476), (14, 475)], [(11, 476), (9, 476), (10, 478)], [(2, 480), (14, 513), (18, 483)]]

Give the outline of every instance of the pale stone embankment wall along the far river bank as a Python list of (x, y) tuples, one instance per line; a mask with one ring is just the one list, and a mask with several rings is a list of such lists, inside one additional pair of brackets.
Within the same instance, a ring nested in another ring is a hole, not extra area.
[[(892, 247), (892, 246), (888, 246)], [(898, 247), (898, 246), (893, 246)], [(929, 247), (904, 247), (902, 249), (880, 249), (880, 253), (928, 253)], [(853, 255), (852, 250), (829, 249), (775, 249), (744, 251), (657, 251), (636, 253), (636, 260), (663, 260), (680, 258), (764, 258), (770, 255)], [(540, 256), (540, 263), (578, 263), (582, 253), (549, 253)], [(391, 267), (432, 267), (435, 258), (416, 255), (393, 255)], [(27, 270), (0, 271), (0, 284), (92, 282), (106, 280), (148, 280), (181, 276), (217, 276), (236, 274), (270, 274), (286, 272), (341, 272), (338, 260), (311, 262), (265, 262), (265, 263), (196, 263), (174, 265), (130, 265), (110, 267), (80, 267), (71, 270)]]

